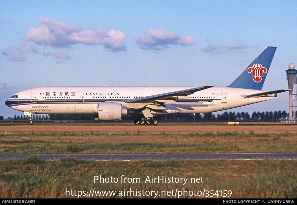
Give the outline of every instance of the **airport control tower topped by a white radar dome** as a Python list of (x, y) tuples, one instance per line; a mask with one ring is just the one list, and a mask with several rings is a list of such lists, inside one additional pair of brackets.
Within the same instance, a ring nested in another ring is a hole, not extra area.
[(290, 63), (289, 64), (289, 69), (286, 70), (287, 72), (287, 79), (288, 79), (288, 85), (289, 85), (289, 89), (293, 89), (289, 91), (289, 118), (288, 121), (292, 122), (296, 122), (296, 84), (297, 84), (297, 78), (296, 78), (296, 74), (297, 74), (297, 70), (294, 69), (295, 65), (294, 63)]

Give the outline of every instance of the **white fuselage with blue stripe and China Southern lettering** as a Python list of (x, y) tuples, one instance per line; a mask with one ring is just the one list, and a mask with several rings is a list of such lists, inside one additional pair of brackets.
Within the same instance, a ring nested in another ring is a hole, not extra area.
[[(13, 109), (35, 114), (97, 114), (98, 103), (112, 101), (131, 110), (148, 104), (125, 103), (127, 99), (153, 96), (191, 87), (40, 87), (15, 93), (5, 104)], [(245, 98), (263, 92), (233, 87), (211, 87), (189, 95), (189, 99), (177, 99), (177, 103), (165, 103), (155, 114), (207, 113), (240, 107), (276, 98), (265, 96)]]

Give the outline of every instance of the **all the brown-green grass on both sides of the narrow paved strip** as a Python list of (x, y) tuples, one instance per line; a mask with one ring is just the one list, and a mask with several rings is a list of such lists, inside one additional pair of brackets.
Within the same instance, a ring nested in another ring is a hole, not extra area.
[[(260, 153), (296, 150), (295, 126), (0, 126), (0, 153)], [(296, 169), (295, 160), (268, 159), (164, 162), (0, 160), (0, 198), (76, 198), (65, 196), (65, 188), (82, 191), (132, 188), (159, 192), (206, 188), (231, 190), (230, 198), (296, 198)], [(93, 182), (94, 175), (120, 179), (122, 174), (140, 177), (142, 181), (137, 184)], [(151, 175), (203, 176), (205, 183), (144, 183), (146, 176)]]

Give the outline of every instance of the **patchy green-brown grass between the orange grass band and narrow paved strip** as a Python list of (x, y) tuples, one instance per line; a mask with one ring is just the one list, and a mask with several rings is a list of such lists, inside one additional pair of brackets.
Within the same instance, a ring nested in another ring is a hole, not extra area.
[[(88, 127), (88, 126), (87, 126)], [(125, 126), (127, 127), (127, 126)], [(63, 127), (62, 127), (63, 128)], [(296, 152), (297, 134), (283, 132), (27, 132), (0, 135), (12, 154), (177, 154)], [(64, 129), (63, 129), (64, 131)]]

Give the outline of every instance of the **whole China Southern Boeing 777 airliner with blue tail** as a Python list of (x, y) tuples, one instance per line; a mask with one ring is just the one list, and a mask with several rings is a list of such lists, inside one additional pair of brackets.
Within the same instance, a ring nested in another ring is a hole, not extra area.
[(264, 51), (227, 87), (39, 87), (13, 94), (5, 104), (33, 114), (96, 114), (98, 120), (139, 115), (135, 125), (157, 125), (154, 115), (207, 113), (277, 98), (289, 89), (261, 91), (276, 47)]

